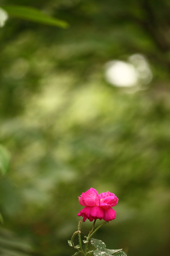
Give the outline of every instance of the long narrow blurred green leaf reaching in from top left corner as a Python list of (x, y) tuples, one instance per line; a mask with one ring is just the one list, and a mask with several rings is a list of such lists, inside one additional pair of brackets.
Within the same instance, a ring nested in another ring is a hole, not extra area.
[(28, 21), (35, 21), (38, 23), (45, 23), (51, 26), (59, 26), (61, 28), (67, 28), (69, 24), (66, 21), (62, 21), (57, 18), (52, 18), (47, 16), (47, 14), (42, 13), (42, 11), (27, 7), (27, 6), (3, 6), (3, 8), (8, 12), (9, 15), (16, 18), (23, 18)]

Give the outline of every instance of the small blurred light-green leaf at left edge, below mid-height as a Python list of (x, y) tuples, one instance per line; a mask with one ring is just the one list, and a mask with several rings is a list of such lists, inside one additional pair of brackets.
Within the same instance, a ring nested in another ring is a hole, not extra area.
[(2, 174), (6, 174), (11, 156), (4, 146), (0, 145), (0, 171)]

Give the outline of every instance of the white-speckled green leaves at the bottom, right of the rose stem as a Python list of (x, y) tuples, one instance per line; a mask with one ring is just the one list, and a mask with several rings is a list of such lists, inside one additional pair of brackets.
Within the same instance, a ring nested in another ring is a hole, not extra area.
[(103, 241), (92, 238), (91, 239), (91, 245), (94, 245), (96, 247), (96, 250), (94, 250), (94, 256), (126, 256), (125, 252), (123, 252), (122, 249), (118, 250), (110, 250), (106, 249), (106, 245)]

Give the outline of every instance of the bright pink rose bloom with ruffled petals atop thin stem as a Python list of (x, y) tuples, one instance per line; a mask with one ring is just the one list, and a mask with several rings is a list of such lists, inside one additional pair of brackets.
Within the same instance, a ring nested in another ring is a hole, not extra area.
[(85, 193), (79, 196), (79, 203), (81, 206), (85, 206), (77, 215), (82, 216), (83, 222), (88, 218), (92, 220), (114, 220), (115, 210), (113, 206), (118, 203), (118, 198), (111, 192), (104, 192), (98, 195), (98, 192), (94, 188), (90, 188)]

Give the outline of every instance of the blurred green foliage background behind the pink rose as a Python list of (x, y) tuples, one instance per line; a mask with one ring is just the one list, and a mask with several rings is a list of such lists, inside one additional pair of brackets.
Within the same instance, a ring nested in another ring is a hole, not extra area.
[[(169, 255), (170, 1), (1, 4), (35, 7), (69, 28), (9, 17), (0, 30), (0, 144), (11, 153), (0, 255), (72, 255), (78, 196), (91, 187), (119, 198), (95, 238), (128, 256)], [(148, 64), (141, 79), (112, 85), (106, 63), (130, 56)], [(86, 220), (84, 235), (90, 228)]]

